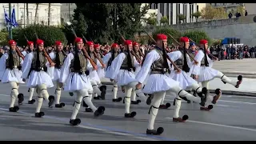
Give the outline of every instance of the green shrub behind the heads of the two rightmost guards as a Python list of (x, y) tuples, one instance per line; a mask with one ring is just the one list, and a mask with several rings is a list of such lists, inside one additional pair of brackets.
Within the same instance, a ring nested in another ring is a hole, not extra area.
[(209, 43), (209, 46), (211, 45), (212, 41), (209, 38), (209, 36), (206, 34), (206, 32), (202, 30), (190, 30), (186, 31), (184, 34), (182, 34), (184, 37), (188, 37), (192, 39), (194, 42), (199, 43), (201, 39), (206, 39)]

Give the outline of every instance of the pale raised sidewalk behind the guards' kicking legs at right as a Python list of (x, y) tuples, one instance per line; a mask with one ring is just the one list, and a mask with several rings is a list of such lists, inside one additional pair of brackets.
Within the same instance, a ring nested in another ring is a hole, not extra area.
[[(238, 78), (231, 78), (232, 80), (237, 81)], [(102, 84), (104, 85), (112, 85), (112, 82), (108, 78), (102, 78)], [(226, 83), (224, 84), (221, 79), (214, 78), (214, 80), (210, 81), (209, 87), (210, 92), (214, 93), (214, 90), (221, 89), (222, 94), (234, 94), (234, 95), (244, 95), (244, 96), (256, 96), (256, 79), (254, 78), (243, 78), (242, 84), (239, 88), (235, 88), (234, 86)]]

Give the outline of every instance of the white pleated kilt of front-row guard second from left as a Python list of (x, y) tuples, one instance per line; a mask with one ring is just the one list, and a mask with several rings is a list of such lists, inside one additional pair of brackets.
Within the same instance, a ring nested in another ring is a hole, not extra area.
[(47, 88), (54, 87), (54, 83), (52, 82), (50, 75), (47, 74), (45, 71), (31, 71), (26, 86), (35, 88), (36, 86), (42, 84), (45, 84)]

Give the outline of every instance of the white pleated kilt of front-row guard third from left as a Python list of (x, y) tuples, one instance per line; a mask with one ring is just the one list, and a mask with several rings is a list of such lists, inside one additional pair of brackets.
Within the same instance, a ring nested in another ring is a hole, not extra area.
[(90, 77), (86, 74), (70, 73), (64, 84), (64, 91), (74, 92), (82, 89), (93, 90)]

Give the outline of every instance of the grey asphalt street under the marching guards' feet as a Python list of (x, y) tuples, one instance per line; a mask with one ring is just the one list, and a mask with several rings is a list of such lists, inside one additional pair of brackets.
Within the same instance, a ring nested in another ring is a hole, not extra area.
[[(74, 98), (65, 92), (61, 101), (66, 103), (62, 109), (48, 108), (44, 102), (43, 118), (34, 118), (34, 105), (28, 105), (27, 88), (20, 86), (20, 93), (25, 94), (25, 101), (18, 113), (8, 111), (10, 102), (9, 84), (0, 84), (0, 140), (256, 140), (256, 98), (245, 96), (223, 95), (217, 106), (210, 112), (200, 111), (198, 104), (182, 102), (181, 116), (188, 114), (185, 123), (172, 122), (174, 106), (170, 110), (159, 110), (155, 127), (165, 128), (161, 136), (146, 135), (149, 106), (140, 103), (132, 105), (135, 118), (124, 118), (124, 104), (112, 102), (111, 88), (108, 86), (106, 100), (93, 100), (96, 106), (105, 106), (105, 114), (94, 118), (92, 113), (84, 112), (81, 107), (78, 118), (80, 126), (69, 126)], [(54, 88), (50, 89), (54, 94)], [(35, 94), (34, 94), (35, 95)], [(123, 97), (121, 91), (119, 96)], [(173, 97), (166, 96), (166, 102), (173, 102)]]

